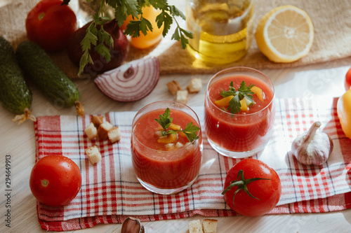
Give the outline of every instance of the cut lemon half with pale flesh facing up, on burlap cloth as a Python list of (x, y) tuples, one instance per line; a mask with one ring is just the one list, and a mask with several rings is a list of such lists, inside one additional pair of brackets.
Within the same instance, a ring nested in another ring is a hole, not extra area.
[(258, 22), (256, 42), (272, 62), (295, 62), (312, 47), (314, 31), (310, 17), (295, 6), (279, 6)]

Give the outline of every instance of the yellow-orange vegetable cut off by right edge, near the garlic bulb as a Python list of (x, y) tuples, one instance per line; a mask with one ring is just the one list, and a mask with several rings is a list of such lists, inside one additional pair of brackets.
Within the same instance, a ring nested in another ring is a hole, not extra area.
[(351, 89), (338, 99), (336, 110), (343, 132), (351, 139)]

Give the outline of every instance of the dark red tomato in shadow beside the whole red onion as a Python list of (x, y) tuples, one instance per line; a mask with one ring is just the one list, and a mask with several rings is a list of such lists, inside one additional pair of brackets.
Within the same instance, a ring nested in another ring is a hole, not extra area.
[(46, 51), (67, 47), (69, 36), (77, 29), (77, 17), (61, 0), (42, 0), (27, 15), (25, 28), (30, 41)]

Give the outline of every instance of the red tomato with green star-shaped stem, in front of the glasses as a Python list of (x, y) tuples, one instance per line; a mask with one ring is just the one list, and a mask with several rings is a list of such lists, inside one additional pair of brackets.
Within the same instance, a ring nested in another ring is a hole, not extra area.
[(222, 194), (225, 202), (244, 216), (262, 216), (271, 211), (282, 194), (277, 172), (255, 159), (241, 160), (235, 164), (225, 178), (224, 188)]

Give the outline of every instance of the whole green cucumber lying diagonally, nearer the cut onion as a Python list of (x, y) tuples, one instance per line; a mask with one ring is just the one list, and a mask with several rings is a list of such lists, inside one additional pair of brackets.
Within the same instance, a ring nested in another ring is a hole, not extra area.
[(56, 106), (76, 106), (77, 113), (84, 115), (76, 85), (53, 62), (43, 48), (32, 41), (22, 41), (15, 55), (28, 78)]

